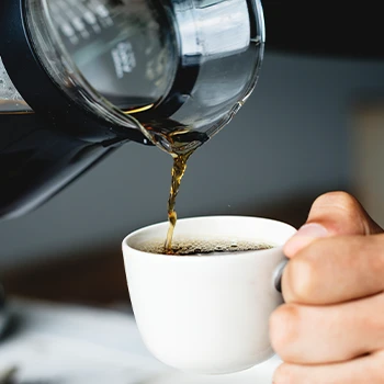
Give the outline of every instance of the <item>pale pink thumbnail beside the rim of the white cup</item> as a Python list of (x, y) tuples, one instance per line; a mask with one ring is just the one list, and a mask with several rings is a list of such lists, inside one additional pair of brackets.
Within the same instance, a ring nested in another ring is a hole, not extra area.
[(297, 233), (291, 237), (284, 246), (284, 253), (287, 257), (294, 256), (301, 249), (309, 245), (313, 240), (319, 237), (326, 237), (328, 230), (320, 224), (309, 223), (304, 224)]

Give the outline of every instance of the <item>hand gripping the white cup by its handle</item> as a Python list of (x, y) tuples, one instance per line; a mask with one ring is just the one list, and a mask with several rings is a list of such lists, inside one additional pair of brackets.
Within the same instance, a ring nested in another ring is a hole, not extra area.
[(285, 247), (270, 319), (274, 384), (384, 383), (384, 233), (345, 192), (319, 196)]

